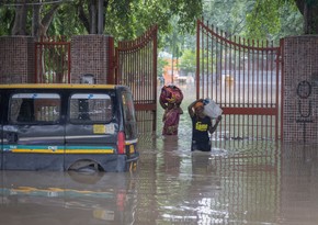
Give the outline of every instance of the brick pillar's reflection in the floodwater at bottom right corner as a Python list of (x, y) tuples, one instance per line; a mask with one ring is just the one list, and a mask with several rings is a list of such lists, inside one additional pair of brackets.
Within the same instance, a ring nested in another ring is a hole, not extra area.
[(281, 171), (282, 221), (285, 224), (317, 224), (317, 148), (285, 144)]

